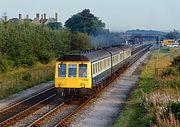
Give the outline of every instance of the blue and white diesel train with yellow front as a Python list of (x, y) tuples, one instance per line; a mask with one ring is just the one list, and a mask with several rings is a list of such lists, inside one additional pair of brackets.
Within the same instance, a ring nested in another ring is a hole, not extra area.
[(130, 46), (115, 46), (59, 57), (55, 65), (58, 94), (67, 97), (92, 90), (103, 79), (127, 66), (134, 52), (137, 51)]

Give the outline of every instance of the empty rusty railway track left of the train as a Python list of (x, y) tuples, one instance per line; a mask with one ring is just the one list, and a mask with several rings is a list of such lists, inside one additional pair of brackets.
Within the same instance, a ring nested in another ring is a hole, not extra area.
[(15, 120), (20, 120), (27, 116), (32, 111), (36, 111), (42, 107), (54, 95), (54, 88), (49, 88), (41, 93), (38, 93), (30, 98), (27, 98), (15, 105), (7, 107), (0, 111), (0, 126), (12, 125)]

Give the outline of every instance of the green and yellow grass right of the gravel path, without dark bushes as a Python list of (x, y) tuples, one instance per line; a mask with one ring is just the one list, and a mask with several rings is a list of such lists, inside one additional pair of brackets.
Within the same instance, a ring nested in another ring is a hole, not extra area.
[[(130, 94), (114, 127), (161, 127), (163, 119), (158, 114), (164, 113), (170, 101), (180, 99), (179, 75), (161, 77), (163, 70), (170, 66), (171, 60), (176, 55), (180, 55), (180, 49), (166, 47), (161, 48), (159, 54), (157, 51), (152, 54), (147, 65), (142, 68), (139, 85)], [(156, 63), (159, 75), (155, 78)]]

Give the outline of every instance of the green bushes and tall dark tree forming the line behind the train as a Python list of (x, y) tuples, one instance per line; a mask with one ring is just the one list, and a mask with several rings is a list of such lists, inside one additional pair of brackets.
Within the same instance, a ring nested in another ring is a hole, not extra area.
[(85, 9), (59, 23), (35, 25), (29, 21), (0, 22), (0, 72), (46, 64), (72, 50), (91, 47), (90, 36), (105, 31), (105, 24)]

